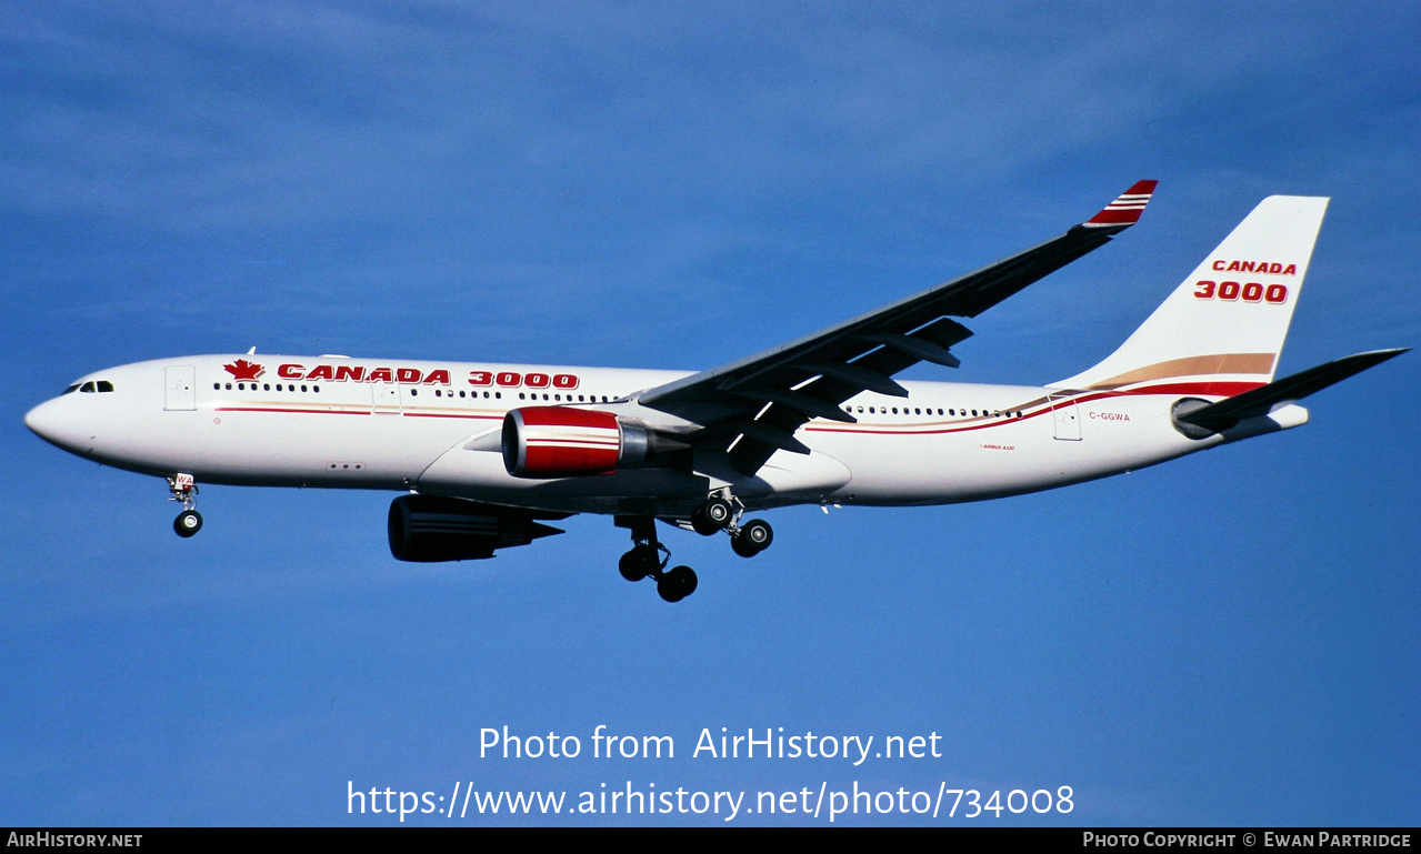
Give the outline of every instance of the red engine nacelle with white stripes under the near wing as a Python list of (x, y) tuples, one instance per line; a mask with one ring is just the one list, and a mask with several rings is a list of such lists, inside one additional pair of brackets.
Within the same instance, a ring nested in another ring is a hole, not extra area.
[(524, 406), (503, 418), (503, 466), (514, 477), (601, 475), (645, 462), (657, 435), (611, 412)]

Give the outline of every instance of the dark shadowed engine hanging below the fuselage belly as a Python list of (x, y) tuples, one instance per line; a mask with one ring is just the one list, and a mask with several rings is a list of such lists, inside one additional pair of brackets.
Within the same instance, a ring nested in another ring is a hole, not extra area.
[[(566, 514), (544, 514), (560, 519)], [(406, 494), (389, 504), (389, 553), (395, 560), (435, 563), (493, 557), (495, 548), (527, 546), (563, 533), (513, 507), (463, 499)]]

